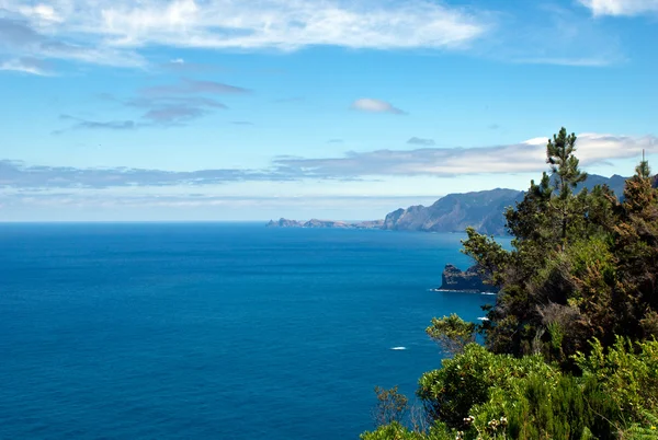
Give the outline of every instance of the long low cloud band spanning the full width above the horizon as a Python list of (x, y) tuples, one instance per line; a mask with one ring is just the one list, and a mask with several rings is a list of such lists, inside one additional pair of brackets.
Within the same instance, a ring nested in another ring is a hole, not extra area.
[[(173, 172), (128, 167), (75, 169), (0, 161), (0, 187), (198, 186), (235, 182), (359, 181), (387, 176), (454, 177), (541, 172), (546, 170), (546, 138), (536, 138), (514, 144), (478, 148), (375, 150), (319, 159), (279, 157), (272, 161), (271, 166), (259, 170)], [(577, 147), (578, 158), (588, 166), (615, 159), (634, 158), (643, 149), (648, 153), (658, 153), (658, 138), (581, 134)]]

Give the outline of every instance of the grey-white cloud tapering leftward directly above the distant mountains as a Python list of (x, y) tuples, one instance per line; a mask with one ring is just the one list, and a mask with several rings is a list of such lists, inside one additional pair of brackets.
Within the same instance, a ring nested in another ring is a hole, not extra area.
[[(548, 138), (534, 138), (494, 147), (375, 150), (350, 152), (341, 158), (282, 158), (275, 163), (288, 175), (319, 178), (529, 173), (547, 170), (547, 141)], [(578, 136), (576, 155), (587, 167), (610, 160), (637, 158), (643, 149), (648, 153), (658, 153), (658, 138), (581, 134)]]

